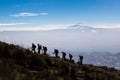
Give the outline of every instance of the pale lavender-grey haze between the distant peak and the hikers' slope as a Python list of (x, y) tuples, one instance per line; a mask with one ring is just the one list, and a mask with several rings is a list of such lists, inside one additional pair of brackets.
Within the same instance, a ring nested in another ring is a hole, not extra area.
[(119, 29), (63, 29), (50, 31), (5, 31), (0, 40), (30, 48), (31, 43), (48, 46), (49, 51), (57, 48), (70, 52), (120, 51)]

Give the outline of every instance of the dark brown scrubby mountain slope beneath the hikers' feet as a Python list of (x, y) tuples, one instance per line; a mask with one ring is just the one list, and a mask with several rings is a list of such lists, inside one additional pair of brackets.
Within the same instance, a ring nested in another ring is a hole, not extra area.
[(120, 71), (77, 65), (0, 42), (0, 80), (120, 80)]

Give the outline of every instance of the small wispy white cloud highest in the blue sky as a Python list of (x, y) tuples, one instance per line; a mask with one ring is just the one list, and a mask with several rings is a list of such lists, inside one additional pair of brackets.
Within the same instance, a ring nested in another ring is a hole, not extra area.
[(48, 13), (18, 13), (18, 14), (13, 14), (10, 15), (12, 17), (32, 17), (32, 16), (42, 16), (42, 15), (47, 15)]

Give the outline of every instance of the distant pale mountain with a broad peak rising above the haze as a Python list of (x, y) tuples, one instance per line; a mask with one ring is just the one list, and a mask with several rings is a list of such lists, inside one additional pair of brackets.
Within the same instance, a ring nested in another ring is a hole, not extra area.
[[(64, 26), (63, 26), (64, 27)], [(79, 31), (79, 32), (92, 32), (92, 33), (120, 33), (120, 28), (96, 28), (95, 26), (85, 26), (81, 24), (75, 24), (67, 26), (63, 29), (54, 29), (52, 31)]]

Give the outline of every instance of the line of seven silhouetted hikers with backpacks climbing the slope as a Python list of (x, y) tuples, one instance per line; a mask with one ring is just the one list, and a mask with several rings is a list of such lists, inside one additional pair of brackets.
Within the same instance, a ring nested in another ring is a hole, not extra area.
[[(42, 46), (42, 45), (40, 45), (40, 44), (37, 44), (37, 51), (38, 52), (36, 52), (36, 45), (34, 44), (34, 43), (32, 43), (32, 51), (33, 51), (33, 53), (43, 53), (43, 54), (47, 54), (47, 47), (45, 47), (45, 46)], [(67, 60), (66, 59), (66, 53), (65, 52), (61, 52), (62, 53), (62, 59), (63, 60)], [(53, 54), (55, 54), (55, 57), (56, 58), (59, 58), (59, 56), (58, 56), (58, 54), (59, 54), (59, 50), (58, 49), (54, 49), (54, 52), (53, 52)], [(73, 58), (73, 55), (72, 54), (69, 54), (69, 61), (70, 62), (74, 62), (74, 60), (72, 59)], [(78, 64), (80, 64), (80, 65), (82, 65), (83, 64), (83, 56), (81, 56), (81, 55), (79, 55), (79, 61), (77, 62)]]

